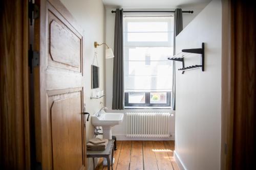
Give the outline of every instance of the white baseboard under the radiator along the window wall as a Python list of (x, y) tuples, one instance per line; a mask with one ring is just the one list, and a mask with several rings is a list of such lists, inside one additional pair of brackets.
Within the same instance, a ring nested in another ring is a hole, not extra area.
[(124, 134), (112, 134), (112, 136), (116, 136), (117, 140), (174, 140), (175, 134), (171, 134), (168, 138), (163, 137), (126, 137)]

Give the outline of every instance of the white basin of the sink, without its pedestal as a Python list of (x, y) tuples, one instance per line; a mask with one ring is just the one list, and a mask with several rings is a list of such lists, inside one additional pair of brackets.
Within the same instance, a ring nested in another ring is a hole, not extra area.
[(92, 116), (93, 126), (115, 126), (123, 122), (123, 113), (101, 113), (99, 117)]

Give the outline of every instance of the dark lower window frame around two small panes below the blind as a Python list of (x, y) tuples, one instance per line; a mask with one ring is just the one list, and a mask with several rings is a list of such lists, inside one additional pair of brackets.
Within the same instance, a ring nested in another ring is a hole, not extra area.
[[(131, 92), (131, 91), (130, 91)], [(171, 102), (171, 91), (136, 91), (145, 93), (145, 103), (129, 103), (129, 92), (124, 92), (124, 107), (170, 107)], [(166, 92), (166, 104), (150, 103), (151, 92)]]

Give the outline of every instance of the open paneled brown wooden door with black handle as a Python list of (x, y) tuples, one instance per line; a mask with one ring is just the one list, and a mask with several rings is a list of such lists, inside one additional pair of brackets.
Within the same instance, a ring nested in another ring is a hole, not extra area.
[(36, 156), (42, 169), (86, 169), (83, 35), (58, 1), (36, 1)]

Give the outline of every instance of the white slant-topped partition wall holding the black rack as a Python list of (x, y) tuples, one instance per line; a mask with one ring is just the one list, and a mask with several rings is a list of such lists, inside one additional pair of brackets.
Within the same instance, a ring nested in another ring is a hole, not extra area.
[[(185, 169), (220, 169), (221, 1), (211, 1), (176, 37), (176, 52), (205, 42), (205, 71), (176, 69), (176, 155)], [(185, 66), (200, 57), (185, 58)], [(182, 67), (180, 62), (177, 68)]]

